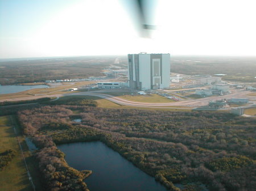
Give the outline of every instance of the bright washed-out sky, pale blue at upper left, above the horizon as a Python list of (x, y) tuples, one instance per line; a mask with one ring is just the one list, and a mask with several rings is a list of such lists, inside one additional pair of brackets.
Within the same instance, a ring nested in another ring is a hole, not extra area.
[[(155, 0), (139, 37), (132, 0), (0, 0), (0, 58), (138, 52), (256, 56), (255, 0)], [(130, 14), (129, 14), (130, 13)]]

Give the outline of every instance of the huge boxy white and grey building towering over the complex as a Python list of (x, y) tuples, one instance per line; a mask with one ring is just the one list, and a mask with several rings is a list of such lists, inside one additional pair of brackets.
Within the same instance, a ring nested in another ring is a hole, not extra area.
[(129, 87), (157, 90), (170, 87), (170, 54), (128, 54)]

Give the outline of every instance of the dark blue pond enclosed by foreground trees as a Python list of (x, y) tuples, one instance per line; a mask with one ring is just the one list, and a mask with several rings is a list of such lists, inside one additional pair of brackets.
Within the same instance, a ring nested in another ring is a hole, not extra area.
[(67, 163), (78, 170), (93, 173), (85, 179), (90, 191), (167, 191), (118, 152), (97, 142), (59, 145)]

